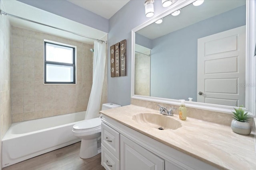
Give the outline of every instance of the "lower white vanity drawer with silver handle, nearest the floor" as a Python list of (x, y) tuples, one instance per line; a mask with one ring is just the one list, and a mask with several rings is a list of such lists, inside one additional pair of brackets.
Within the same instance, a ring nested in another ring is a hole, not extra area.
[(101, 164), (106, 170), (120, 170), (119, 160), (101, 144)]

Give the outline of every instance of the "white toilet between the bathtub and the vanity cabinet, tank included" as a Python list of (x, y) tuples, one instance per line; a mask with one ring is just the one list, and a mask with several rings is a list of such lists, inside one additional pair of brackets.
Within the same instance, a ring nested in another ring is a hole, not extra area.
[[(118, 104), (102, 104), (102, 110), (121, 107)], [(81, 140), (80, 158), (88, 159), (101, 152), (101, 117), (81, 121), (73, 126), (73, 135)]]

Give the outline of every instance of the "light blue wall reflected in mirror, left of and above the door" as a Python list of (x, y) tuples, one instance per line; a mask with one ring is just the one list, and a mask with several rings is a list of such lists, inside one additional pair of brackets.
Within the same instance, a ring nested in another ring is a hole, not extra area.
[(196, 101), (197, 39), (242, 25), (245, 5), (154, 39), (150, 96)]

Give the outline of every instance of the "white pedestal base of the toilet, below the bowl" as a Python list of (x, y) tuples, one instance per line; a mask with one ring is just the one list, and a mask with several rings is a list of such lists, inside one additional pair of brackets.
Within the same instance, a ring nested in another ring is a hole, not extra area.
[(98, 149), (97, 146), (97, 138), (96, 139), (89, 139), (81, 141), (81, 147), (80, 147), (80, 158), (82, 159), (88, 159), (92, 158), (93, 156), (96, 156), (101, 152), (100, 149)]

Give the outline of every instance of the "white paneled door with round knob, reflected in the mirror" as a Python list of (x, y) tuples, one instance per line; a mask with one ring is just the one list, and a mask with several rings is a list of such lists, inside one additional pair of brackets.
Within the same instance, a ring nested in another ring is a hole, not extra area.
[(246, 26), (198, 39), (197, 102), (245, 106)]

